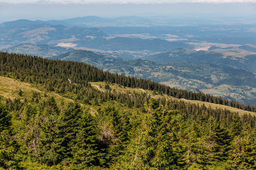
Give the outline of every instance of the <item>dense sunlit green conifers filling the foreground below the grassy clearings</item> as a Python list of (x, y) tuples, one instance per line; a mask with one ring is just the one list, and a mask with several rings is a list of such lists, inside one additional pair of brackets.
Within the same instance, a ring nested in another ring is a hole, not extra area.
[(135, 112), (101, 103), (93, 117), (78, 103), (33, 98), (0, 101), (3, 168), (256, 168), (249, 115), (152, 98)]

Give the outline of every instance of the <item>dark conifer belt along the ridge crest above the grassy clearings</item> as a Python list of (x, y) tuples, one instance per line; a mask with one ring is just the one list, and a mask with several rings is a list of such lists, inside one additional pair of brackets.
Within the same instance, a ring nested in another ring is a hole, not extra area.
[[(1, 52), (0, 75), (13, 76), (22, 81), (40, 83), (49, 91), (55, 90), (60, 93), (63, 91), (72, 91), (75, 94), (83, 94), (83, 96), (80, 96), (82, 100), (83, 98), (92, 99), (94, 97), (102, 99), (102, 92), (92, 89), (88, 84), (88, 81), (107, 81), (109, 83), (118, 83), (124, 87), (154, 90), (154, 92), (157, 92), (158, 94), (167, 94), (179, 99), (200, 100), (210, 103), (224, 104), (242, 110), (256, 111), (255, 106), (228, 101), (227, 99), (203, 94), (202, 92), (190, 92), (188, 90), (170, 88), (150, 80), (109, 73), (108, 71), (102, 71), (97, 69), (97, 67), (81, 62), (47, 60), (40, 57)], [(88, 89), (91, 89), (90, 91), (92, 92), (88, 92)], [(106, 96), (107, 100), (129, 100), (128, 96), (116, 96), (111, 95), (110, 93), (107, 95), (105, 94), (104, 96)], [(145, 98), (147, 96), (141, 97)], [(139, 101), (140, 100), (136, 102), (138, 103)], [(140, 105), (142, 106), (143, 103), (140, 103)], [(131, 104), (129, 106), (131, 106)]]

